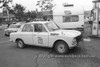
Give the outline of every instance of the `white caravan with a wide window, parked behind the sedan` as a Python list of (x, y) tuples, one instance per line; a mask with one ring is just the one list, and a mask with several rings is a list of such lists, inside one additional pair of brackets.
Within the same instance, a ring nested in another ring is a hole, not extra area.
[(56, 6), (53, 21), (63, 29), (84, 30), (84, 9), (78, 6)]

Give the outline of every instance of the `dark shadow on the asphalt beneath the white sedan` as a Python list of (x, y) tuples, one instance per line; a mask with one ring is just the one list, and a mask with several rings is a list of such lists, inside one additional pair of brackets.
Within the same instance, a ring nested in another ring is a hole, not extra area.
[[(58, 53), (55, 52), (55, 50), (53, 48), (47, 48), (47, 47), (38, 47), (38, 46), (27, 45), (26, 48), (23, 50), (33, 50), (33, 51), (38, 51), (38, 52), (41, 51), (43, 54), (47, 53), (47, 54), (51, 54), (51, 55), (59, 55)], [(71, 54), (80, 55), (80, 54), (87, 54), (87, 53), (86, 53), (85, 49), (78, 46), (78, 47), (75, 47), (73, 49), (70, 49), (66, 55), (71, 55)]]

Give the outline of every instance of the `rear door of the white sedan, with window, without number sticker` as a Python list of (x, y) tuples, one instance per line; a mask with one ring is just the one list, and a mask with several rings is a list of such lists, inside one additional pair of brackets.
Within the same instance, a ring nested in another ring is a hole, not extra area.
[(25, 24), (21, 31), (21, 39), (25, 44), (34, 44), (33, 40), (33, 26), (31, 24)]

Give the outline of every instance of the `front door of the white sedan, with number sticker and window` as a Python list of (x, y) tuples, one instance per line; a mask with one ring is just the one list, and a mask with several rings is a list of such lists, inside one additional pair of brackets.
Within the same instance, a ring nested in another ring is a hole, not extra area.
[(39, 46), (48, 46), (49, 33), (43, 24), (34, 24), (35, 44)]

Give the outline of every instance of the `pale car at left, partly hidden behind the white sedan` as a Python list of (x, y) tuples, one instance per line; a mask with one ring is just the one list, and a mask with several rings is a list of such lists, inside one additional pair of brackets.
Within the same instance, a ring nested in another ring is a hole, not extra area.
[(11, 24), (8, 28), (4, 30), (4, 35), (9, 36), (12, 32), (17, 32), (21, 24)]

